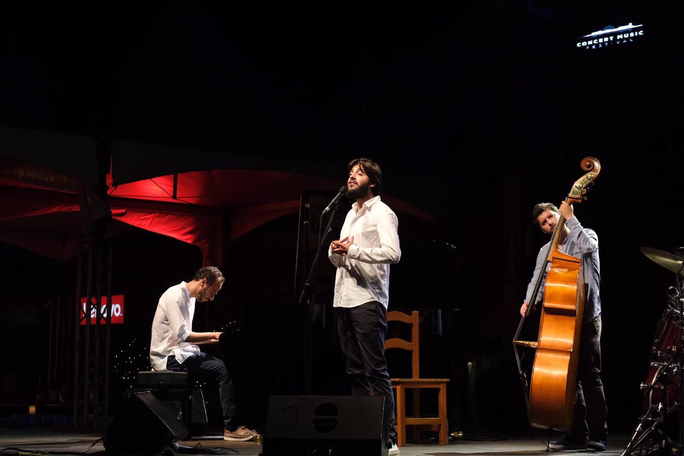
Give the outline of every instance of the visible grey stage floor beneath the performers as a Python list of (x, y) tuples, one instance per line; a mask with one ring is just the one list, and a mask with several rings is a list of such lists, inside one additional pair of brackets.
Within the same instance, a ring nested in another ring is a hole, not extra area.
[[(92, 442), (101, 437), (100, 433), (49, 429), (0, 429), (0, 448), (23, 448), (33, 451), (84, 451)], [(627, 436), (611, 436), (606, 451), (602, 455), (620, 455), (627, 444)], [(205, 447), (224, 446), (239, 451), (244, 456), (257, 456), (263, 446), (254, 442), (225, 442), (224, 440), (193, 440), (181, 442), (195, 446), (198, 442)], [(102, 442), (96, 444), (88, 453), (104, 451)], [(438, 444), (408, 444), (399, 448), (402, 456), (525, 456), (547, 454), (546, 446), (540, 439), (508, 438), (507, 440), (457, 440), (447, 446)], [(565, 451), (573, 455), (596, 454), (592, 451)]]

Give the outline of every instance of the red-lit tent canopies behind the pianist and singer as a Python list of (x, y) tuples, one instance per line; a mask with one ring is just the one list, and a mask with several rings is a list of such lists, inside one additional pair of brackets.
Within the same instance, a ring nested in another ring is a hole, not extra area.
[[(111, 183), (111, 176), (108, 180)], [(0, 178), (0, 186), (2, 241), (55, 260), (68, 260), (77, 254), (82, 217), (65, 215), (81, 212), (82, 196), (79, 201), (76, 191), (47, 189), (9, 178)], [(209, 170), (110, 187), (108, 203), (115, 221), (197, 245), (204, 265), (221, 265), (226, 242), (278, 217), (296, 213), (304, 190), (330, 191), (337, 187), (339, 182), (330, 178), (293, 172)], [(383, 199), (395, 211), (434, 219), (390, 196)], [(57, 226), (60, 229), (55, 231)], [(123, 229), (117, 225), (116, 232)]]

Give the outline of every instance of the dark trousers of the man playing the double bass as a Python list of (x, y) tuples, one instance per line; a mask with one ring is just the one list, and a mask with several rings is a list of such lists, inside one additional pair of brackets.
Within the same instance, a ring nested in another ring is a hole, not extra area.
[(573, 410), (573, 427), (570, 435), (575, 438), (605, 440), (607, 407), (601, 382), (601, 314), (582, 327), (579, 343), (577, 371), (577, 394)]

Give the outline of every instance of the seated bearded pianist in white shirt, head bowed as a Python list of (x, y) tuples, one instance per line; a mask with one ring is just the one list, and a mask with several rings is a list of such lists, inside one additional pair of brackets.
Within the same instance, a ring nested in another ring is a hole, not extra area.
[(235, 386), (226, 365), (200, 351), (198, 345), (217, 344), (220, 332), (194, 332), (192, 317), (195, 301), (211, 301), (221, 290), (225, 278), (217, 267), (203, 267), (189, 282), (181, 282), (159, 298), (152, 323), (150, 363), (155, 371), (187, 371), (217, 381), (223, 408), (224, 440), (250, 440), (244, 426), (235, 426)]

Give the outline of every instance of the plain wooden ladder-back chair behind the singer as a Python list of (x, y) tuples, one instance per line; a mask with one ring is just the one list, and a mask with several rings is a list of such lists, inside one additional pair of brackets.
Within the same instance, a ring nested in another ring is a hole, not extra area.
[[(418, 312), (414, 310), (410, 316), (402, 312), (387, 312), (387, 321), (399, 321), (411, 326), (411, 340), (390, 338), (385, 341), (385, 349), (404, 349), (411, 351), (411, 378), (391, 379), (392, 388), (397, 390), (397, 446), (406, 445), (406, 426), (432, 425), (439, 431), (439, 444), (447, 444), (447, 381), (449, 379), (423, 379), (420, 376), (420, 345)], [(438, 416), (436, 418), (421, 418), (420, 390), (435, 388), (439, 390)], [(413, 415), (406, 416), (406, 390), (413, 390)], [(417, 443), (419, 429), (414, 432)]]

